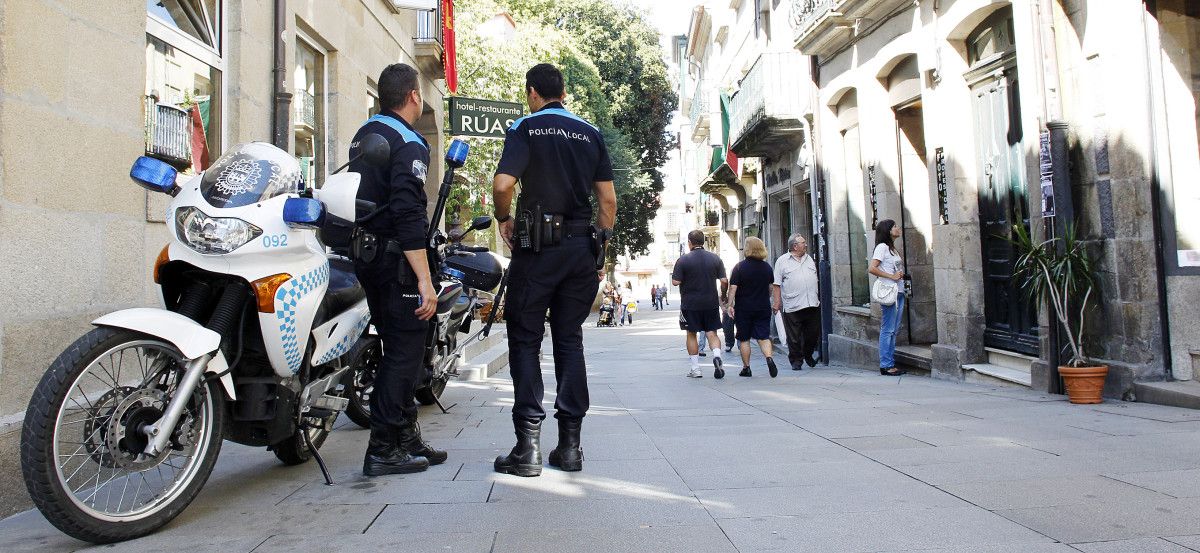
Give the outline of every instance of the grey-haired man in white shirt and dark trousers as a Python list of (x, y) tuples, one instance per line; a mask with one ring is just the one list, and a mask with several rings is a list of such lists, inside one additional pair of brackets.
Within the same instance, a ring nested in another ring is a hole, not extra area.
[(775, 260), (775, 282), (770, 287), (770, 306), (776, 313), (784, 313), (792, 371), (799, 371), (804, 363), (817, 365), (812, 354), (820, 339), (821, 299), (817, 264), (808, 252), (808, 240), (793, 234), (787, 240), (787, 253)]

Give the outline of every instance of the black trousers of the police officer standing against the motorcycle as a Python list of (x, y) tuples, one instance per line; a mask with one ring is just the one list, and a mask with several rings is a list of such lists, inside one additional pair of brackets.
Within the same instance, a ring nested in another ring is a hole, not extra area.
[(413, 393), (425, 377), (421, 366), (430, 323), (414, 313), (420, 305), (416, 287), (403, 287), (397, 278), (395, 254), (376, 263), (356, 262), (359, 276), (371, 308), (371, 323), (383, 342), (383, 357), (376, 369), (371, 391), (371, 426), (396, 427), (416, 420)]

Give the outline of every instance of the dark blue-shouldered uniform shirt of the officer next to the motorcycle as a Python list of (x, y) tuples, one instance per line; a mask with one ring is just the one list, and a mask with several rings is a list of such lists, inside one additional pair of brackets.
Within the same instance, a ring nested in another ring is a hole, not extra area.
[[(377, 167), (365, 160), (350, 163), (350, 170), (362, 175), (358, 199), (373, 202), (377, 208), (386, 206), (384, 212), (367, 221), (364, 229), (396, 240), (402, 250), (425, 250), (430, 224), (425, 196), (430, 144), (407, 121), (383, 110), (354, 134), (350, 157), (358, 155), (359, 139), (370, 133), (388, 140), (391, 162), (386, 167)], [(364, 215), (360, 212), (359, 217)]]

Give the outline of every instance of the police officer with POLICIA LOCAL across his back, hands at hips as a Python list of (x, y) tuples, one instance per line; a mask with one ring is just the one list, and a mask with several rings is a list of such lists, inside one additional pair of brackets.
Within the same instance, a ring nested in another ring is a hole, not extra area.
[[(546, 411), (539, 361), (547, 308), (558, 383), (558, 446), (550, 464), (569, 471), (583, 468), (580, 429), (588, 410), (583, 320), (600, 285), (598, 272), (617, 211), (604, 137), (563, 107), (563, 74), (552, 65), (526, 73), (530, 115), (509, 128), (493, 181), (496, 221), (512, 250), (504, 318), (517, 434), (512, 451), (496, 458), (496, 470), (520, 476), (541, 474), (539, 441)], [(521, 196), (510, 210), (518, 180)], [(595, 224), (593, 193), (600, 211)]]

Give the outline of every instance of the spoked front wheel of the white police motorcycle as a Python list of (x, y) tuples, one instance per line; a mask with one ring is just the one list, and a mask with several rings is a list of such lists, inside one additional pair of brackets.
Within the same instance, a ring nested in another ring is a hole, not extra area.
[(112, 543), (157, 530), (192, 503), (221, 452), (217, 383), (197, 386), (164, 452), (143, 452), (142, 428), (162, 416), (182, 374), (174, 345), (120, 329), (88, 332), (50, 365), (25, 411), (20, 458), (52, 524)]

